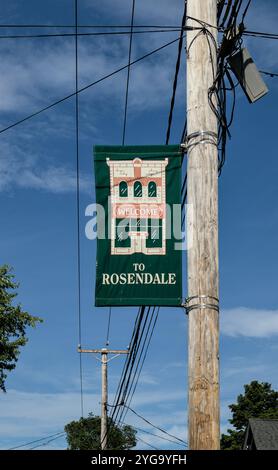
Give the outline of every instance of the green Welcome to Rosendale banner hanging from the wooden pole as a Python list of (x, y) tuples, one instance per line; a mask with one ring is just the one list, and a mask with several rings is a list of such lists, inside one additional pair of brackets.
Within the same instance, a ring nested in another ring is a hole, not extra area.
[(95, 146), (94, 163), (96, 306), (181, 305), (180, 147)]

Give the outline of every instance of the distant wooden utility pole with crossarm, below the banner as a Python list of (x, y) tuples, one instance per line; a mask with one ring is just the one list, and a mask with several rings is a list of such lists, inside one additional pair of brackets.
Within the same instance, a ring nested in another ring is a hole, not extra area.
[[(128, 349), (80, 349), (78, 348), (79, 353), (93, 353), (101, 354), (101, 432), (100, 432), (100, 443), (101, 449), (107, 449), (108, 442), (108, 428), (107, 428), (107, 403), (108, 403), (108, 388), (107, 388), (107, 364), (108, 362), (118, 357), (120, 354), (128, 354)], [(111, 359), (108, 359), (108, 354), (114, 354)]]

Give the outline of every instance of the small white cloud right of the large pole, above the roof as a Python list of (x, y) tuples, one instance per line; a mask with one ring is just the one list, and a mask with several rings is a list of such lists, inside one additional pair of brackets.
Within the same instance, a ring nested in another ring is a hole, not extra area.
[(237, 307), (223, 310), (221, 331), (227, 336), (267, 338), (278, 335), (278, 310)]

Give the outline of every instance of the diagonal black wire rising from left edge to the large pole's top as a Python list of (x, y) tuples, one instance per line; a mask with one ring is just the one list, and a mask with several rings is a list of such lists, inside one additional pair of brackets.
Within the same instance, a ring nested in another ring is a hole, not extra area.
[[(139, 57), (138, 59), (133, 60), (129, 65), (131, 66), (131, 65), (137, 64), (138, 62), (140, 62), (140, 61), (146, 59), (147, 57), (150, 57), (151, 55), (155, 54), (156, 52), (161, 51), (162, 49), (165, 49), (166, 47), (170, 46), (171, 44), (174, 44), (174, 43), (177, 42), (177, 41), (179, 41), (179, 38), (173, 39), (172, 41), (169, 41), (169, 42), (167, 42), (166, 44), (163, 44), (162, 46), (160, 46), (160, 47), (158, 47), (158, 48), (152, 50), (151, 52), (148, 52), (147, 54), (144, 54), (143, 56)], [(114, 70), (113, 72), (111, 72), (111, 73), (109, 73), (109, 74), (107, 74), (107, 75), (104, 75), (103, 77), (99, 78), (98, 80), (95, 80), (94, 82), (89, 83), (88, 85), (86, 85), (86, 86), (80, 88), (79, 90), (77, 90), (77, 91), (75, 91), (75, 92), (73, 92), (73, 93), (70, 93), (70, 94), (64, 96), (63, 98), (60, 98), (60, 99), (57, 100), (57, 101), (54, 101), (53, 103), (51, 103), (51, 104), (48, 105), (48, 106), (45, 106), (44, 108), (40, 109), (39, 111), (36, 111), (36, 112), (34, 112), (34, 113), (32, 113), (32, 114), (29, 114), (29, 115), (26, 116), (25, 118), (20, 119), (20, 120), (14, 122), (13, 124), (10, 124), (9, 126), (3, 128), (3, 129), (1, 129), (1, 130), (0, 130), (0, 134), (2, 134), (3, 132), (6, 132), (6, 131), (9, 130), (9, 129), (12, 129), (12, 128), (15, 127), (15, 126), (18, 126), (19, 124), (22, 124), (23, 122), (25, 122), (25, 121), (27, 121), (27, 120), (29, 120), (29, 119), (35, 117), (35, 116), (38, 116), (39, 114), (41, 114), (41, 113), (43, 113), (43, 112), (45, 112), (45, 111), (48, 111), (49, 109), (51, 109), (51, 108), (57, 106), (57, 105), (60, 104), (60, 103), (63, 103), (64, 101), (67, 101), (68, 99), (74, 97), (76, 94), (82, 93), (82, 92), (88, 90), (89, 88), (91, 88), (92, 86), (97, 85), (98, 83), (101, 83), (102, 81), (104, 81), (104, 80), (106, 80), (106, 79), (108, 79), (108, 78), (113, 77), (114, 75), (116, 75), (117, 73), (121, 72), (122, 70), (125, 70), (127, 67), (128, 67), (128, 64), (127, 64), (127, 65), (123, 65), (122, 67), (120, 67), (120, 68)]]

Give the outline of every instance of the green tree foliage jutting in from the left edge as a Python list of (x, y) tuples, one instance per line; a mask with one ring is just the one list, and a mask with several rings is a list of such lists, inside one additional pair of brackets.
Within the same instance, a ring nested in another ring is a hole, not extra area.
[(23, 311), (21, 305), (13, 304), (17, 288), (11, 268), (0, 266), (0, 389), (3, 392), (6, 391), (6, 372), (15, 368), (20, 347), (28, 341), (26, 328), (42, 321)]

